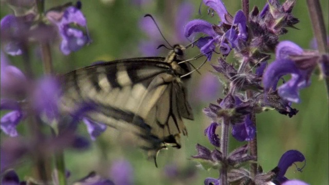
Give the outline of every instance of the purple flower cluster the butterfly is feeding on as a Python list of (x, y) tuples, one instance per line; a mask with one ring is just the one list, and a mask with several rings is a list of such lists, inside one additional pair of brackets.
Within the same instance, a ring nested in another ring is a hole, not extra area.
[(212, 25), (203, 20), (190, 21), (184, 28), (185, 36), (189, 38), (195, 33), (208, 35), (196, 42), (196, 46), (208, 57), (208, 60), (211, 59), (211, 54), (216, 47), (219, 47), (220, 52), (225, 56), (231, 49), (240, 48), (241, 42), (247, 40), (247, 18), (243, 11), (237, 11), (232, 20), (221, 1), (205, 0), (204, 4), (214, 9), (222, 22), (219, 25)]

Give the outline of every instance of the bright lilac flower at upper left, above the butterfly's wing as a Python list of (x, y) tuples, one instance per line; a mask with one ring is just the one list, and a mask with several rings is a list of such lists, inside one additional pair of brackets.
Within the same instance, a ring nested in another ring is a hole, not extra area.
[(58, 27), (62, 37), (60, 49), (65, 55), (69, 54), (71, 51), (77, 51), (91, 42), (89, 36), (84, 34), (83, 31), (70, 26), (70, 24), (75, 24), (85, 27), (87, 31), (86, 18), (79, 8), (69, 6), (64, 12), (48, 11), (46, 16)]

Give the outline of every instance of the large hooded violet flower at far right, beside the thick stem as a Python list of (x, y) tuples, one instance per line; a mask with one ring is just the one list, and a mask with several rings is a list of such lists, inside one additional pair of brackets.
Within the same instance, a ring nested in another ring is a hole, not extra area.
[(276, 49), (276, 60), (264, 73), (265, 90), (276, 90), (282, 76), (291, 74), (291, 79), (278, 87), (278, 93), (284, 100), (299, 103), (299, 90), (310, 85), (309, 78), (318, 58), (315, 53), (306, 53), (293, 42), (280, 42)]

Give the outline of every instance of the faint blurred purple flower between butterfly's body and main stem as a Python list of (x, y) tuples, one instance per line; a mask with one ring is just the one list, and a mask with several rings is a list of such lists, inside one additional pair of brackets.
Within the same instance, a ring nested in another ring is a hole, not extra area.
[(220, 82), (218, 78), (211, 73), (207, 73), (198, 83), (197, 92), (194, 94), (196, 99), (203, 102), (215, 100), (220, 92)]

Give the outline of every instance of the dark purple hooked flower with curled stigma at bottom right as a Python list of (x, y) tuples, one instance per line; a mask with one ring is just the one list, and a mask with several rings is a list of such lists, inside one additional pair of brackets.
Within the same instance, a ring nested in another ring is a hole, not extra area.
[[(295, 162), (303, 162), (304, 160), (305, 160), (304, 155), (297, 150), (289, 150), (285, 152), (280, 158), (280, 161), (278, 163), (278, 167), (280, 171), (275, 180), (280, 183), (287, 181), (288, 179), (284, 177), (284, 174), (286, 173), (287, 169)], [(301, 172), (302, 169), (303, 168), (298, 169), (298, 171)]]

